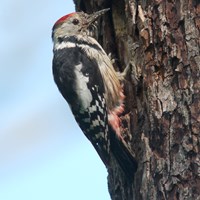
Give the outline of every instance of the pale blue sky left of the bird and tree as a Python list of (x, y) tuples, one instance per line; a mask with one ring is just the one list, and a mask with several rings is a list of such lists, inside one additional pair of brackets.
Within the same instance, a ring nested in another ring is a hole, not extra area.
[(107, 171), (52, 76), (51, 28), (69, 0), (0, 7), (0, 200), (109, 200)]

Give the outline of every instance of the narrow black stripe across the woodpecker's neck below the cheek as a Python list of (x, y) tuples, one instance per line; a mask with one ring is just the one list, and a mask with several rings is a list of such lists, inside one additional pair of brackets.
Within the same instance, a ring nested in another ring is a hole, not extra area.
[(89, 43), (87, 40), (78, 39), (75, 36), (69, 36), (65, 38), (58, 38), (58, 41), (61, 42), (72, 42), (77, 45), (86, 45), (88, 47), (92, 47), (98, 51), (102, 51), (102, 49), (97, 44)]

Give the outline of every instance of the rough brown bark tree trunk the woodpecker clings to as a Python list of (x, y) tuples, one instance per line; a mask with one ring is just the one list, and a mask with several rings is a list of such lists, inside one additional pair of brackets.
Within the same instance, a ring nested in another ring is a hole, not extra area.
[(138, 161), (133, 182), (113, 163), (113, 200), (200, 199), (199, 0), (75, 0), (87, 13), (111, 8), (98, 41), (122, 71), (125, 140)]

